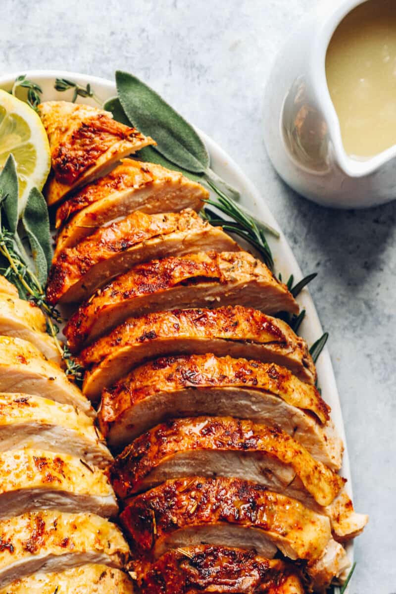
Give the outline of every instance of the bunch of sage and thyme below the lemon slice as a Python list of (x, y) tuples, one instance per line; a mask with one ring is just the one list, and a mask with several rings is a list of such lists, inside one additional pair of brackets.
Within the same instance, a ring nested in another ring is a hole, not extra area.
[(34, 268), (18, 233), (18, 177), (11, 154), (0, 172), (0, 272), (17, 287), (21, 298), (33, 301), (42, 309), (47, 331), (65, 362), (66, 374), (75, 380), (82, 380), (83, 368), (58, 339), (59, 328), (56, 323), (63, 321), (61, 314), (46, 301), (44, 286), (52, 250), (47, 205), (37, 188), (30, 191), (20, 226), (27, 235)]

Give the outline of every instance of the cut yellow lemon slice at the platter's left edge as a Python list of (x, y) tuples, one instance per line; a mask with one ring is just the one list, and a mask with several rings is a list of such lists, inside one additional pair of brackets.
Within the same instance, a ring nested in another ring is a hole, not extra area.
[(0, 169), (12, 153), (17, 163), (20, 212), (30, 189), (47, 179), (51, 156), (45, 128), (27, 103), (0, 89)]

